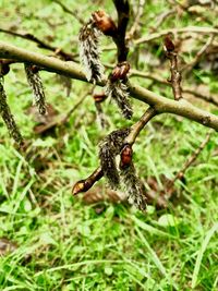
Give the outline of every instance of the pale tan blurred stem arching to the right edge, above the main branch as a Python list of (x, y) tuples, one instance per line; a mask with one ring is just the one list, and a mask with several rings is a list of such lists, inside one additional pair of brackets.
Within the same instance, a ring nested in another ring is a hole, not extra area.
[(170, 29), (161, 31), (159, 33), (150, 34), (148, 36), (141, 37), (134, 40), (134, 45), (149, 43), (162, 36), (169, 35), (170, 33), (173, 35), (183, 34), (183, 33), (195, 33), (195, 34), (202, 34), (202, 35), (218, 35), (218, 28), (204, 27), (204, 26), (186, 26), (182, 28), (170, 28)]

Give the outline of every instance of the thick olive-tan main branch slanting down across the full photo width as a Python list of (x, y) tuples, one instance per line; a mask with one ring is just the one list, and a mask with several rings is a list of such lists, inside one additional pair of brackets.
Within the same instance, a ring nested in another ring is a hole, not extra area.
[[(45, 57), (41, 53), (32, 52), (12, 45), (8, 45), (3, 41), (0, 41), (0, 58), (15, 59), (22, 62), (36, 64), (40, 68), (44, 68), (46, 71), (56, 72), (68, 77), (87, 82), (78, 64), (74, 62), (63, 62), (56, 58)], [(97, 85), (100, 86), (105, 86), (105, 84), (106, 80), (97, 83)], [(155, 108), (157, 113), (172, 113), (185, 117), (190, 120), (196, 121), (205, 126), (218, 131), (217, 116), (202, 110), (184, 99), (174, 101), (141, 86), (131, 85), (131, 83), (129, 84), (129, 88), (130, 95), (133, 98), (150, 105)]]

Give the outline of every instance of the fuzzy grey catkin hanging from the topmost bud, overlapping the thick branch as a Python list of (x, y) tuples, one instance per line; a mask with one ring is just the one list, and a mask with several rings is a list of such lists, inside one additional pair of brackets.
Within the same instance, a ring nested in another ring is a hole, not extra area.
[(98, 47), (100, 35), (101, 32), (95, 26), (93, 19), (81, 28), (78, 35), (81, 62), (84, 65), (87, 81), (93, 83), (101, 81), (104, 76)]

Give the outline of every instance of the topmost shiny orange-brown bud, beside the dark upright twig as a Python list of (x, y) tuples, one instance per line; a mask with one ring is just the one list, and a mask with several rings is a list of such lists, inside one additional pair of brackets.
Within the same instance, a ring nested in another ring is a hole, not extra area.
[(93, 19), (96, 26), (101, 33), (108, 36), (114, 36), (117, 33), (117, 26), (113, 20), (102, 10), (98, 10), (93, 13)]

